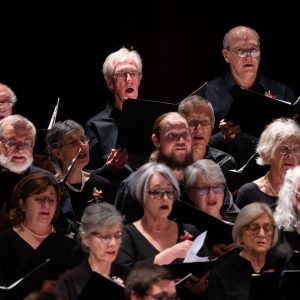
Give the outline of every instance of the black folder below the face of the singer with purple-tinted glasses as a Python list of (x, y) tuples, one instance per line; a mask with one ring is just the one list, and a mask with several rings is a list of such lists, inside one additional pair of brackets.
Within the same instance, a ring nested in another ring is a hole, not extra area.
[(208, 246), (233, 242), (232, 224), (221, 221), (185, 201), (174, 202), (172, 215), (178, 222), (193, 224), (200, 232), (207, 230), (205, 241)]

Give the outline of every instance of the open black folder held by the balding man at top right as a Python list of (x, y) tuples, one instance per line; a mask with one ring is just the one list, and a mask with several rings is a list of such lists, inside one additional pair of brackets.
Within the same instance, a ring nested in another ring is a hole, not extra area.
[(259, 137), (266, 125), (280, 117), (291, 118), (300, 113), (300, 98), (293, 104), (260, 93), (239, 88), (226, 116), (227, 121), (240, 125), (245, 133)]

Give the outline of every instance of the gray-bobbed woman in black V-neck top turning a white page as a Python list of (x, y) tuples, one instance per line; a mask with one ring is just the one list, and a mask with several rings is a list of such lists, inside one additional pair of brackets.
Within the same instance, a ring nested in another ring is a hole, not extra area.
[(193, 225), (168, 218), (174, 201), (180, 196), (172, 170), (165, 164), (149, 162), (139, 178), (131, 181), (130, 190), (143, 207), (143, 216), (124, 226), (117, 261), (132, 267), (147, 262), (163, 265), (182, 260), (199, 232)]

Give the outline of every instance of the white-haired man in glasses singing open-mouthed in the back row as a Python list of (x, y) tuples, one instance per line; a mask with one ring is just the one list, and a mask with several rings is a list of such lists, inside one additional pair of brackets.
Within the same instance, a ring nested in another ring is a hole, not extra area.
[(103, 74), (113, 97), (106, 108), (90, 118), (85, 125), (89, 138), (89, 169), (109, 179), (117, 188), (119, 183), (145, 161), (128, 155), (126, 149), (115, 149), (123, 101), (137, 99), (142, 79), (142, 60), (135, 50), (121, 48), (111, 53), (103, 64)]

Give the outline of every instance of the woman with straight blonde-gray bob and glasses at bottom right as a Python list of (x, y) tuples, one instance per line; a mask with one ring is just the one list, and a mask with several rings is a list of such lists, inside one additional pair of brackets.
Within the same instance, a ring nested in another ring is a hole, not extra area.
[(247, 300), (252, 274), (276, 270), (269, 253), (278, 240), (270, 207), (252, 203), (242, 208), (232, 230), (238, 249), (225, 254), (208, 277), (207, 299)]

